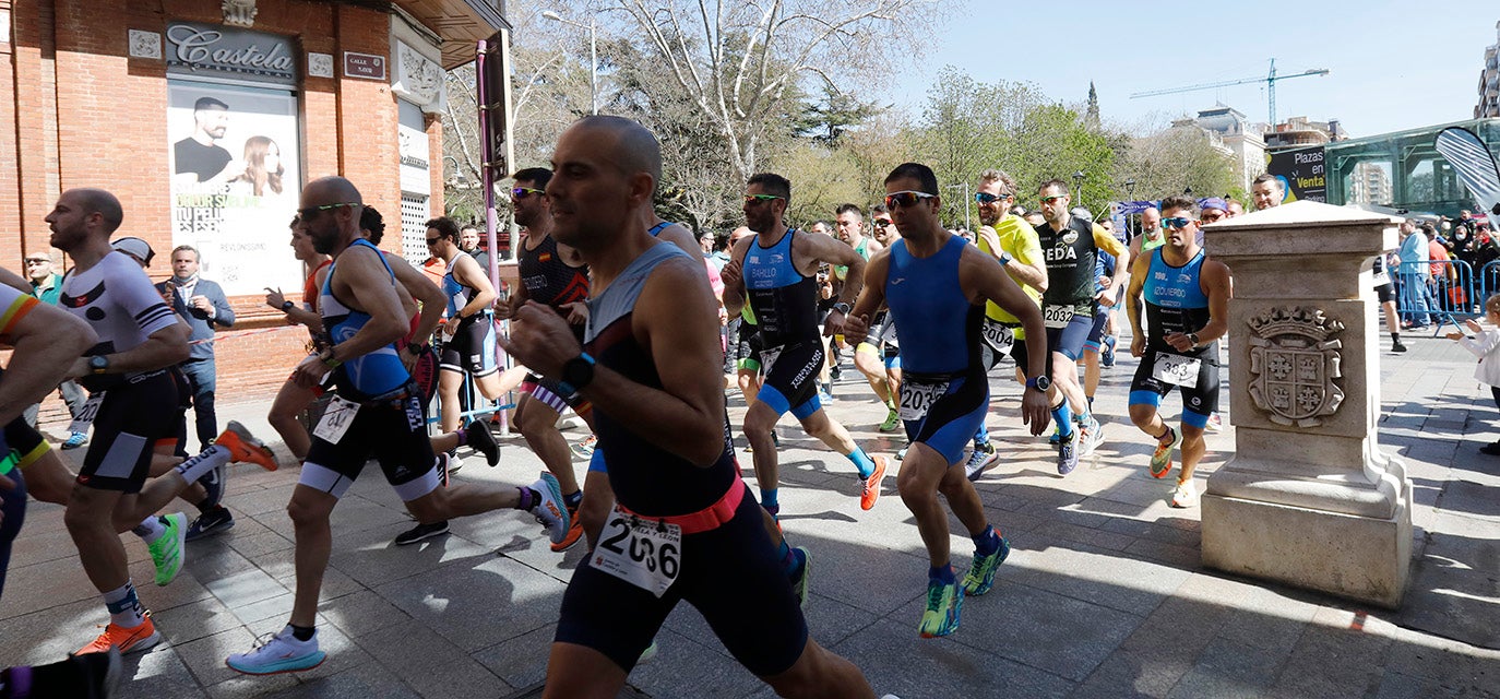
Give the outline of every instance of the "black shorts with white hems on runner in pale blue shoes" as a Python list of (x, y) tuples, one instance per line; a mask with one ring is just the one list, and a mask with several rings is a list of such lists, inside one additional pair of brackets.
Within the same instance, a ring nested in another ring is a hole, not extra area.
[[(328, 405), (324, 420), (336, 404)], [(386, 482), (405, 502), (438, 488), (428, 414), (414, 384), (392, 398), (360, 404), (338, 444), (314, 435), (297, 483), (340, 498), (369, 459), (380, 460)]]

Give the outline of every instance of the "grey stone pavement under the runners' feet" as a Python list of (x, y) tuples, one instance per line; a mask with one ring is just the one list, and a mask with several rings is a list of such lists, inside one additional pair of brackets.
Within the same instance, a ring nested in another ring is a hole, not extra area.
[[(945, 639), (916, 636), (926, 555), (894, 474), (879, 506), (861, 512), (854, 468), (783, 420), (783, 522), (813, 552), (812, 633), (854, 660), (878, 693), (904, 699), (1500, 696), (1500, 504), (1490, 490), (1500, 486), (1500, 459), (1478, 453), (1500, 438), (1496, 408), (1470, 378), (1467, 352), (1443, 339), (1407, 344), (1406, 356), (1382, 354), (1380, 440), (1407, 459), (1418, 501), (1413, 584), (1400, 612), (1200, 567), (1198, 513), (1167, 506), (1170, 482), (1144, 468), (1150, 440), (1125, 417), (1136, 362), (1124, 357), (1100, 388), (1107, 441), (1068, 478), (1056, 476), (1054, 452), (1016, 424), (1014, 384), (992, 375), (990, 426), (1004, 459), (978, 486), (1014, 552), (994, 591), (966, 600), (962, 628)], [(874, 432), (884, 410), (844, 369), (832, 416), (890, 454), (900, 444)], [(220, 418), (270, 435), (267, 404), (220, 406)], [(734, 396), (730, 405), (738, 420), (744, 404)], [(1178, 408), (1168, 398), (1167, 412)], [(1209, 435), (1203, 477), (1233, 447), (1224, 417), (1226, 432)], [(540, 462), (519, 438), (504, 442), (500, 468), (471, 458), (456, 477), (534, 480)], [(741, 465), (752, 478), (747, 456)], [(582, 552), (550, 554), (538, 526), (516, 513), (459, 520), (448, 537), (396, 549), (392, 537), (411, 522), (375, 468), (333, 518), (320, 620), (327, 663), (268, 678), (225, 668), (226, 654), (285, 624), (292, 542), (284, 508), (296, 478), (296, 468), (237, 471), (226, 504), (238, 525), (189, 544), (170, 586), (148, 582), (144, 546), (124, 537), (132, 574), (146, 580), (141, 600), (168, 642), (128, 660), (134, 680), (123, 696), (534, 696)], [(954, 562), (968, 566), (972, 543), (962, 532), (952, 542)], [(33, 504), (6, 592), (4, 663), (56, 660), (105, 620), (56, 506)], [(658, 658), (632, 674), (638, 693), (628, 696), (772, 696), (687, 606), (658, 642)]]

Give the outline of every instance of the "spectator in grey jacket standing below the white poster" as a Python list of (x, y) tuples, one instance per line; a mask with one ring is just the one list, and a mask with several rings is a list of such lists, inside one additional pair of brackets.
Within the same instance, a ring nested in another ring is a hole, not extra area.
[(219, 435), (219, 422), (213, 414), (213, 333), (219, 327), (234, 326), (234, 310), (218, 284), (198, 279), (198, 250), (188, 244), (172, 249), (172, 276), (158, 284), (156, 291), (192, 330), (190, 354), (178, 368), (192, 386), (198, 447), (204, 450)]

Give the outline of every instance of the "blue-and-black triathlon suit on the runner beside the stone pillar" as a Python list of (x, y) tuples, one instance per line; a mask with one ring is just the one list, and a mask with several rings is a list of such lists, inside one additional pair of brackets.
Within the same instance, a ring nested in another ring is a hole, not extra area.
[(1203, 292), (1200, 249), (1188, 264), (1173, 267), (1162, 250), (1148, 252), (1150, 268), (1144, 280), (1146, 354), (1130, 384), (1131, 405), (1161, 406), (1173, 386), (1182, 393), (1182, 424), (1203, 429), (1218, 411), (1218, 340), (1180, 352), (1167, 344), (1168, 333), (1196, 333), (1209, 324), (1209, 297)]

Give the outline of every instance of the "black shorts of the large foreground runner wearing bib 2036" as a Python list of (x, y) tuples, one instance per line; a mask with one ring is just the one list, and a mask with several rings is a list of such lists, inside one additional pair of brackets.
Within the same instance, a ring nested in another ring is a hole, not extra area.
[(579, 566), (562, 594), (554, 639), (603, 652), (630, 672), (684, 600), (754, 675), (789, 670), (807, 646), (807, 621), (750, 494), (729, 522), (682, 537), (681, 573), (662, 598), (588, 562)]

